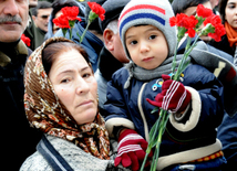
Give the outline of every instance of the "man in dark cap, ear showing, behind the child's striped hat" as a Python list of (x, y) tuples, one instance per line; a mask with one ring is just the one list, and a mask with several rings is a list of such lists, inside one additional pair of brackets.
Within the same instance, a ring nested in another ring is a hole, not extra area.
[[(106, 101), (107, 82), (111, 81), (112, 75), (124, 66), (130, 61), (126, 58), (118, 35), (118, 17), (123, 8), (130, 0), (107, 0), (103, 3), (105, 9), (105, 19), (99, 21), (100, 28), (103, 32), (104, 47), (99, 56), (99, 68), (95, 73), (97, 81), (99, 106), (103, 116), (103, 105)], [(107, 18), (106, 18), (107, 17)]]

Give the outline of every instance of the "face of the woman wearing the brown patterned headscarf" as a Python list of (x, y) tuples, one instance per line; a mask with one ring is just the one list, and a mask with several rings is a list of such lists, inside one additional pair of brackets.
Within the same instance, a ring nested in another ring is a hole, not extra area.
[(49, 77), (59, 99), (78, 125), (94, 120), (97, 113), (97, 83), (91, 67), (76, 50), (56, 56)]

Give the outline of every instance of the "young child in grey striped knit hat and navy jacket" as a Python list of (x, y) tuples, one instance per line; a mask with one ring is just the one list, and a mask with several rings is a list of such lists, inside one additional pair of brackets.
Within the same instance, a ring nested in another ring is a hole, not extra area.
[(140, 169), (148, 131), (158, 118), (158, 113), (151, 114), (158, 95), (156, 103), (173, 114), (157, 170), (220, 170), (226, 160), (215, 128), (224, 114), (224, 88), (197, 64), (183, 72), (182, 82), (169, 79), (176, 45), (173, 15), (167, 0), (132, 0), (121, 13), (120, 36), (131, 63), (113, 75), (104, 105), (109, 133), (118, 138), (115, 165)]

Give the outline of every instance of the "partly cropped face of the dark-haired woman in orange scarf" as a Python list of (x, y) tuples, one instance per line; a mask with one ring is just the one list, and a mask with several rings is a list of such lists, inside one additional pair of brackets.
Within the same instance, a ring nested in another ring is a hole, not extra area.
[(228, 0), (226, 4), (226, 21), (237, 30), (237, 0)]

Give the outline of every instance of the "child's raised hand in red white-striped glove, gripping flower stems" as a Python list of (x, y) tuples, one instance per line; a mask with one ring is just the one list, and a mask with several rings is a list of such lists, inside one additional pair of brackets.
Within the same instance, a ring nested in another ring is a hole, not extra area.
[(168, 75), (162, 75), (164, 83), (162, 93), (157, 94), (155, 101), (146, 99), (151, 105), (161, 107), (172, 113), (182, 113), (190, 101), (190, 93), (179, 82), (171, 79)]

